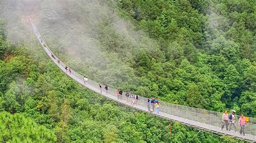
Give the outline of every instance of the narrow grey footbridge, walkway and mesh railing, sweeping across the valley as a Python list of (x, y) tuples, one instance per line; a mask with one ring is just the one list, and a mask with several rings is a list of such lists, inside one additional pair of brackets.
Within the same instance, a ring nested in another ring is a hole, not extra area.
[[(99, 83), (94, 82), (92, 80), (89, 80), (85, 85), (82, 75), (76, 73), (76, 71), (73, 71), (73, 70), (71, 71), (71, 74), (66, 72), (65, 64), (61, 61), (60, 61), (60, 63), (58, 63), (57, 62), (57, 59), (58, 59), (57, 56), (56, 56), (56, 59), (52, 58), (52, 56), (51, 56), (52, 52), (51, 52), (50, 48), (48, 46), (44, 47), (43, 43), (45, 43), (45, 42), (44, 42), (43, 38), (41, 37), (40, 33), (38, 32), (37, 27), (33, 24), (32, 20), (31, 20), (31, 25), (33, 27), (33, 31), (37, 35), (37, 39), (39, 40), (40, 44), (44, 48), (45, 52), (50, 56), (52, 61), (55, 62), (55, 64), (60, 69), (62, 69), (64, 73), (66, 73), (68, 76), (73, 78), (73, 80), (75, 80), (76, 82), (82, 84), (83, 86), (85, 86), (85, 87), (97, 92), (98, 94), (100, 94), (100, 89), (98, 88)], [(41, 40), (43, 42), (41, 42)], [(138, 110), (141, 110), (141, 111), (144, 111), (144, 112), (148, 112), (148, 113), (151, 113), (153, 115), (163, 117), (163, 118), (166, 118), (166, 119), (176, 120), (176, 121), (178, 121), (182, 124), (192, 126), (194, 128), (208, 130), (208, 131), (211, 131), (211, 132), (214, 132), (214, 133), (219, 133), (219, 134), (226, 134), (226, 135), (230, 135), (232, 137), (244, 139), (244, 140), (247, 140), (247, 141), (256, 141), (256, 136), (255, 136), (256, 127), (255, 127), (254, 124), (250, 124), (250, 126), (247, 127), (247, 130), (245, 130), (246, 134), (242, 135), (242, 134), (239, 134), (239, 132), (235, 133), (234, 131), (229, 132), (229, 131), (226, 131), (226, 130), (221, 130), (221, 128), (220, 128), (221, 119), (219, 117), (213, 117), (213, 116), (208, 116), (208, 115), (205, 116), (205, 115), (201, 115), (200, 113), (185, 111), (183, 109), (170, 108), (170, 107), (167, 107), (163, 104), (160, 104), (160, 113), (157, 115), (156, 113), (152, 113), (152, 112), (148, 111), (147, 106), (146, 106), (146, 98), (140, 97), (138, 105), (131, 105), (130, 102), (126, 101), (125, 96), (122, 96), (122, 99), (118, 99), (117, 95), (116, 95), (116, 90), (112, 89), (112, 88), (109, 89), (109, 94), (105, 94), (105, 92), (102, 91), (102, 94), (100, 94), (100, 95), (108, 97), (108, 98), (110, 98), (110, 99), (112, 99), (116, 102), (122, 103), (124, 105), (131, 106), (132, 108), (135, 108), (135, 109), (138, 109)], [(237, 128), (240, 129), (240, 127), (238, 127), (238, 126), (237, 126)], [(250, 131), (250, 132), (247, 133), (248, 131)]]

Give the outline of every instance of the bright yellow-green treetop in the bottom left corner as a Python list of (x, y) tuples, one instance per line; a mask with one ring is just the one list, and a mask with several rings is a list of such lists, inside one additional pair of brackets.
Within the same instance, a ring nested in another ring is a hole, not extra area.
[(39, 126), (32, 119), (25, 118), (21, 113), (11, 115), (0, 113), (1, 142), (55, 142), (53, 132), (44, 126)]

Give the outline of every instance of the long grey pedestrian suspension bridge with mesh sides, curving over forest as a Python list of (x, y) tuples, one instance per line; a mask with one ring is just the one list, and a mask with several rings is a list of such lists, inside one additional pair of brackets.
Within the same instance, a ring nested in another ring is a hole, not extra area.
[[(245, 135), (242, 135), (239, 133), (240, 127), (237, 123), (238, 118), (236, 118), (236, 124), (237, 124), (237, 130), (238, 132), (234, 131), (234, 127), (231, 131), (221, 130), (221, 123), (222, 123), (222, 115), (221, 112), (214, 112), (214, 111), (208, 111), (203, 109), (197, 109), (197, 108), (191, 108), (189, 106), (183, 106), (183, 105), (177, 105), (172, 103), (165, 103), (160, 102), (160, 113), (156, 114), (154, 112), (149, 112), (147, 109), (147, 99), (145, 97), (140, 97), (138, 101), (138, 105), (132, 105), (130, 101), (127, 102), (126, 97), (123, 96), (126, 94), (126, 92), (123, 92), (123, 95), (121, 98), (117, 97), (117, 89), (113, 89), (109, 87), (109, 93), (106, 94), (105, 91), (101, 91), (99, 89), (99, 83), (88, 80), (86, 84), (84, 83), (82, 75), (77, 73), (76, 71), (71, 69), (71, 73), (65, 69), (65, 64), (57, 58), (52, 57), (52, 54), (54, 54), (50, 48), (46, 45), (45, 41), (43, 40), (41, 34), (39, 33), (36, 25), (33, 23), (32, 19), (30, 19), (30, 23), (32, 25), (33, 31), (35, 32), (37, 39), (39, 40), (40, 44), (44, 48), (45, 52), (50, 56), (52, 61), (68, 76), (70, 76), (73, 80), (76, 82), (82, 84), (83, 86), (97, 92), (98, 94), (105, 96), (107, 98), (112, 99), (113, 101), (116, 101), (118, 103), (122, 103), (124, 105), (130, 106), (131, 108), (151, 113), (152, 115), (178, 121), (181, 124), (191, 126), (194, 128), (197, 128), (199, 130), (205, 130), (216, 134), (221, 135), (229, 135), (234, 138), (242, 139), (245, 141), (250, 142), (256, 142), (256, 119), (250, 118), (250, 122), (245, 125)], [(58, 61), (59, 60), (59, 61)], [(103, 84), (102, 87), (104, 88)], [(239, 116), (236, 116), (239, 117)]]

